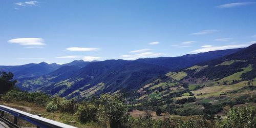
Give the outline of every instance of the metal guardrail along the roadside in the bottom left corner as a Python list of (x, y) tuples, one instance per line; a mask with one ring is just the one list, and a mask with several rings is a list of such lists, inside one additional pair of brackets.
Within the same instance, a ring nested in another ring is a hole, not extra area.
[(35, 124), (37, 127), (67, 127), (67, 128), (75, 128), (74, 126), (67, 125), (64, 123), (60, 123), (57, 121), (53, 121), (47, 118), (39, 117), (37, 115), (33, 115), (30, 113), (26, 113), (20, 110), (16, 110), (10, 108), (8, 106), (0, 105), (0, 111), (2, 111), (1, 116), (4, 116), (4, 113), (8, 113), (14, 116), (14, 124), (17, 124), (17, 118), (24, 119), (30, 123)]

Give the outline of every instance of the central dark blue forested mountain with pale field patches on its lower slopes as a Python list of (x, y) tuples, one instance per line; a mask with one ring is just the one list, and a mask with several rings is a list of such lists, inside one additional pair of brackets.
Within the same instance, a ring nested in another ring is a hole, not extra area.
[(55, 72), (18, 85), (26, 90), (32, 88), (33, 91), (67, 98), (88, 98), (93, 94), (135, 90), (147, 80), (167, 71), (163, 67), (136, 61), (105, 60), (92, 62), (81, 69), (63, 66)]

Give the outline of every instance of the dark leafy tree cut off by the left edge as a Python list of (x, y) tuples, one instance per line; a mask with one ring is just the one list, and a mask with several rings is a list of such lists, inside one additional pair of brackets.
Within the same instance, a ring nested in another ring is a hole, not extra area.
[(13, 76), (14, 75), (11, 72), (2, 72), (0, 75), (0, 94), (7, 92), (14, 87), (17, 80), (12, 80)]

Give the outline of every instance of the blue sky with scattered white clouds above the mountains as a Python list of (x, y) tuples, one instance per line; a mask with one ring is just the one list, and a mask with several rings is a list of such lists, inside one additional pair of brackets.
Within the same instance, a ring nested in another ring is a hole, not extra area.
[(181, 56), (256, 43), (256, 1), (0, 1), (0, 65)]

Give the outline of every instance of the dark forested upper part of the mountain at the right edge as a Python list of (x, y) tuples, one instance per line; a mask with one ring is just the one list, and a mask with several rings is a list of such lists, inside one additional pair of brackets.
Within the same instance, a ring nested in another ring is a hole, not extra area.
[[(256, 44), (253, 44), (236, 53), (214, 59), (204, 63), (198, 63), (198, 66), (204, 67), (198, 72), (192, 72), (197, 69), (184, 70), (187, 77), (203, 77), (207, 79), (221, 79), (237, 72), (243, 72), (245, 68), (249, 71), (244, 73), (242, 80), (249, 80), (256, 76)], [(244, 68), (244, 69), (243, 69)]]

